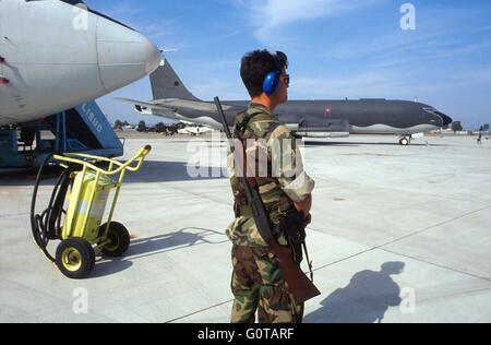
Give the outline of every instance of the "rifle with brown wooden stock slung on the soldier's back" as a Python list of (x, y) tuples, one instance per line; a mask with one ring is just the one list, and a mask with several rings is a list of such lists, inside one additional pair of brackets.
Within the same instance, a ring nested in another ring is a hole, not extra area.
[[(224, 131), (227, 134), (227, 139), (230, 143), (230, 151), (233, 155), (236, 155), (236, 147), (232, 142), (230, 128), (228, 127), (227, 118), (225, 117), (224, 109), (221, 108), (221, 104), (218, 97), (215, 97), (215, 105), (218, 110), (218, 115), (220, 116)], [(235, 162), (237, 165), (236, 171), (244, 171), (241, 159), (235, 159)], [(315, 285), (303, 273), (301, 267), (295, 262), (294, 251), (291, 250), (291, 248), (280, 246), (274, 237), (270, 223), (270, 216), (266, 213), (259, 190), (256, 188), (251, 188), (248, 179), (242, 175), (243, 174), (239, 174), (240, 182), (242, 183), (243, 190), (246, 192), (248, 203), (251, 206), (255, 226), (258, 227), (258, 230), (263, 237), (264, 241), (278, 259), (279, 270), (285, 276), (285, 281), (287, 282), (291, 294), (294, 295), (295, 301), (297, 304), (302, 304), (315, 296), (321, 295), (321, 292), (319, 292)]]

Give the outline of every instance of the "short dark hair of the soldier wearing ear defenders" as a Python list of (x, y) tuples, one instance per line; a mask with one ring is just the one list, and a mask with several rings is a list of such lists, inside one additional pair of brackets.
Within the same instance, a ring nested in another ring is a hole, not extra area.
[(240, 76), (251, 97), (263, 93), (263, 82), (267, 73), (288, 69), (288, 57), (282, 51), (272, 55), (267, 50), (254, 50), (242, 58)]

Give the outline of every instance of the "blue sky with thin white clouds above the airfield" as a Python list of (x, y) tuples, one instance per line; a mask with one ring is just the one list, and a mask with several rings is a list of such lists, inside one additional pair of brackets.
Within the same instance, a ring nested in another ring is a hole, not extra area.
[[(417, 99), (463, 121), (491, 122), (491, 2), (488, 0), (87, 0), (151, 38), (187, 87), (211, 100), (247, 99), (240, 58), (287, 52), (290, 99)], [(416, 31), (400, 7), (416, 8)], [(137, 122), (113, 97), (149, 100), (148, 79), (99, 99), (111, 119)], [(144, 118), (147, 122), (155, 122)], [(158, 119), (157, 119), (158, 121)]]

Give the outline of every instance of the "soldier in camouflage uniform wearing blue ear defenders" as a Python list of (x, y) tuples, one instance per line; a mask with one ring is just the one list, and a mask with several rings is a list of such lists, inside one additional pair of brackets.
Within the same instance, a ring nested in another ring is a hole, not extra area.
[[(241, 76), (252, 100), (236, 118), (235, 136), (246, 147), (236, 147), (236, 152), (242, 151), (243, 154), (246, 151), (246, 166), (254, 175), (253, 181), (249, 178), (250, 172), (246, 176), (251, 185), (259, 188), (272, 224), (277, 225), (286, 212), (296, 209), (303, 212), (307, 226), (310, 223), (314, 181), (302, 169), (295, 138), (273, 112), (277, 105), (288, 99), (287, 68), (287, 57), (279, 51), (272, 55), (267, 50), (256, 50), (242, 58)], [(266, 75), (272, 72), (276, 74), (276, 85), (273, 91), (265, 92), (263, 84)], [(259, 171), (259, 152), (265, 152), (266, 174)], [(278, 162), (282, 164), (273, 174), (273, 166), (277, 167), (274, 164)], [(231, 322), (253, 323), (256, 311), (261, 323), (301, 322), (303, 305), (295, 302), (277, 259), (255, 226), (251, 207), (237, 178), (233, 157), (230, 156), (228, 169), (236, 213), (235, 221), (227, 229), (233, 243), (231, 289), (235, 300)], [(275, 236), (279, 245), (289, 246), (285, 234)], [(299, 264), (300, 261), (301, 259)]]

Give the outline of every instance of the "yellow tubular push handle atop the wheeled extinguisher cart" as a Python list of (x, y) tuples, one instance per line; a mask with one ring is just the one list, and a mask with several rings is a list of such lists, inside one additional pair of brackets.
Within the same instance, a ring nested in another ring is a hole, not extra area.
[[(120, 174), (123, 170), (130, 170), (130, 171), (137, 171), (140, 170), (140, 168), (142, 167), (143, 160), (145, 159), (145, 157), (151, 153), (152, 151), (152, 146), (151, 145), (146, 145), (145, 147), (140, 148), (140, 151), (131, 158), (129, 159), (127, 163), (120, 163), (116, 159), (110, 159), (107, 157), (99, 157), (99, 156), (93, 156), (93, 155), (87, 155), (87, 154), (81, 154), (81, 153), (70, 153), (70, 154), (65, 154), (65, 155), (55, 155), (55, 159), (58, 160), (62, 160), (62, 162), (68, 162), (68, 163), (74, 163), (74, 164), (80, 164), (83, 165), (92, 170), (98, 171), (103, 175), (106, 176), (112, 176), (112, 175), (117, 175)], [(97, 166), (95, 166), (92, 163), (88, 163), (86, 160), (82, 160), (82, 159), (94, 159), (94, 160), (98, 160), (98, 162), (107, 162), (109, 163), (109, 169), (108, 170), (104, 170)], [(136, 163), (136, 165), (131, 166), (133, 163)], [(117, 165), (118, 168), (117, 169), (112, 169), (112, 166)]]

